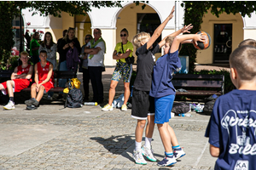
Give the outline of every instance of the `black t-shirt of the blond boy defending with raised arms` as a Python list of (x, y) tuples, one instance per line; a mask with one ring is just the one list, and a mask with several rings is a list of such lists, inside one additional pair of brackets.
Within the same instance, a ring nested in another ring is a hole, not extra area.
[(150, 91), (154, 67), (153, 55), (156, 54), (159, 49), (158, 44), (151, 49), (147, 49), (147, 43), (137, 48), (137, 77), (133, 88), (141, 91)]

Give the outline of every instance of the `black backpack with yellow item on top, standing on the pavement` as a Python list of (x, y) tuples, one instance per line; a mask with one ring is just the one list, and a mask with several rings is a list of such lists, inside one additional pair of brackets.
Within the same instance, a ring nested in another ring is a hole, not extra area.
[(68, 88), (63, 90), (67, 94), (64, 108), (79, 108), (83, 106), (83, 94), (79, 89), (80, 83), (78, 78), (72, 78), (68, 81)]

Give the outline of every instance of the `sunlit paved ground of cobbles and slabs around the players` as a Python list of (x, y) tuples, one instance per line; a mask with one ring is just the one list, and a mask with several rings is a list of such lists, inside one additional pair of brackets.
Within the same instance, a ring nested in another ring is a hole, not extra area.
[[(15, 106), (13, 111), (0, 110), (0, 170), (210, 170), (216, 160), (203, 137), (207, 114), (192, 112), (191, 117), (172, 118), (170, 125), (187, 155), (173, 167), (158, 167), (149, 161), (137, 165), (131, 157), (137, 124), (131, 110), (102, 112), (99, 105), (63, 109), (58, 102), (40, 105), (36, 111), (26, 111), (23, 104)], [(164, 149), (156, 127), (152, 144), (156, 158), (161, 160)]]

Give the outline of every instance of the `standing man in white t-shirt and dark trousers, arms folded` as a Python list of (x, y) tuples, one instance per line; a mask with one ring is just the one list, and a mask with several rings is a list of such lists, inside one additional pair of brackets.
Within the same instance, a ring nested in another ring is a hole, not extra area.
[(93, 90), (93, 100), (98, 104), (103, 102), (102, 71), (104, 69), (104, 54), (106, 44), (102, 39), (102, 31), (96, 28), (93, 31), (94, 38), (87, 43), (84, 53), (88, 54), (88, 70)]

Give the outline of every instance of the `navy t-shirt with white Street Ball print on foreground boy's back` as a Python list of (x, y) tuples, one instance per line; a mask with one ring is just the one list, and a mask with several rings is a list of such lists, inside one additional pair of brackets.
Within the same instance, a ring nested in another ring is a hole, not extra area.
[(216, 100), (205, 134), (220, 149), (215, 169), (256, 169), (256, 91), (233, 90)]

